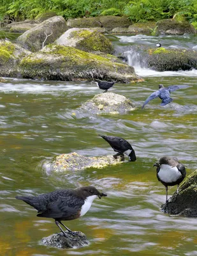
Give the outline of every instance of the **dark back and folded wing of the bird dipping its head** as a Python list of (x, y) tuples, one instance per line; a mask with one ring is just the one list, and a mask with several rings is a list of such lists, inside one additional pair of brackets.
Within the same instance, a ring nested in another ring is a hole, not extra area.
[(113, 148), (113, 150), (115, 152), (119, 152), (122, 153), (128, 149), (132, 149), (131, 144), (119, 137), (115, 137), (115, 136), (104, 136), (104, 135), (100, 135), (104, 140), (106, 140), (110, 146)]

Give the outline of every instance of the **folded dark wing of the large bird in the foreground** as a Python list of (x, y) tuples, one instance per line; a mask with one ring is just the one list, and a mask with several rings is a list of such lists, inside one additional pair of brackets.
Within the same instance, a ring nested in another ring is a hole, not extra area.
[(47, 205), (47, 210), (39, 212), (38, 217), (46, 218), (69, 218), (80, 211), (84, 199), (76, 196), (62, 196), (57, 201)]

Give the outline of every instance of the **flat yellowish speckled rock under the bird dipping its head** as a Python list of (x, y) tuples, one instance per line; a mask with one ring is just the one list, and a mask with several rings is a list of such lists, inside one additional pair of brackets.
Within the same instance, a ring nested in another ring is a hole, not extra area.
[(108, 165), (120, 164), (121, 158), (113, 156), (89, 157), (73, 152), (61, 154), (50, 166), (50, 172), (79, 171), (85, 168), (103, 168)]

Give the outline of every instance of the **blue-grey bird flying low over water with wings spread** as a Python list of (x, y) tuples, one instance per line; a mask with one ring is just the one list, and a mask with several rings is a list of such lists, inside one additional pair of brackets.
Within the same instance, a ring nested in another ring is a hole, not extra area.
[(188, 85), (171, 85), (171, 86), (168, 86), (165, 88), (163, 86), (163, 84), (159, 84), (159, 90), (150, 94), (150, 96), (143, 103), (142, 109), (144, 108), (144, 106), (146, 104), (149, 103), (150, 100), (153, 100), (157, 97), (159, 97), (162, 100), (161, 106), (165, 106), (173, 100), (170, 98), (171, 92), (174, 92), (176, 90), (183, 89), (183, 88), (188, 88), (188, 87), (190, 87), (190, 86), (188, 86)]

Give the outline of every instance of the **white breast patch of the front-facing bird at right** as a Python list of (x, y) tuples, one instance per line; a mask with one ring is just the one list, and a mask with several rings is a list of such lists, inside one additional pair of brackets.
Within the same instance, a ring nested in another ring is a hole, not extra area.
[(177, 181), (181, 177), (181, 173), (176, 166), (161, 164), (158, 176), (163, 182), (171, 183)]

